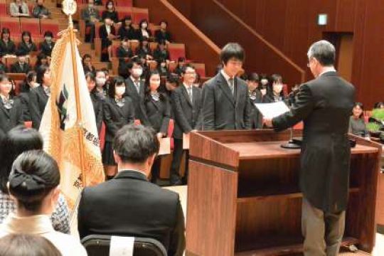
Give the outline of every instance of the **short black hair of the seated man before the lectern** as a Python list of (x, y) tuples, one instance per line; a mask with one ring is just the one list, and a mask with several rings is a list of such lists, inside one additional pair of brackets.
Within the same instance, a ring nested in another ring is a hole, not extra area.
[(119, 129), (113, 140), (114, 152), (125, 163), (144, 163), (159, 153), (159, 139), (151, 127), (129, 124)]

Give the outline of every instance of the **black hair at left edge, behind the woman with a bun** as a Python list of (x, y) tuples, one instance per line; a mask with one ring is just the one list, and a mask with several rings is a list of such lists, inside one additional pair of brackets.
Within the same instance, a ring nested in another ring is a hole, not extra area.
[(43, 149), (43, 138), (36, 129), (22, 125), (14, 127), (1, 140), (0, 190), (8, 193), (6, 183), (11, 172), (12, 163), (23, 151)]

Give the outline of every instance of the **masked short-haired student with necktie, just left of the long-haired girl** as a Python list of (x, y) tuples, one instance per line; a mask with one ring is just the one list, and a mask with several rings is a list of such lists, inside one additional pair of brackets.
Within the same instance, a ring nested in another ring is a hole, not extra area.
[(139, 119), (140, 122), (144, 124), (145, 85), (144, 80), (142, 80), (142, 63), (138, 58), (134, 58), (128, 63), (127, 68), (131, 75), (129, 75), (129, 78), (125, 80), (125, 94), (132, 99), (134, 105), (134, 117)]

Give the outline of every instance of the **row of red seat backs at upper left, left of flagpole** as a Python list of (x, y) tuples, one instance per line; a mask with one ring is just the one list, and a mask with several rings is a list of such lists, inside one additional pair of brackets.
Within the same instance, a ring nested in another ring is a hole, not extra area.
[(46, 31), (52, 31), (53, 36), (57, 38), (59, 23), (50, 19), (0, 16), (0, 29), (2, 28), (9, 28), (12, 38), (15, 38), (15, 35), (21, 38), (23, 31), (31, 32), (33, 37), (42, 37)]

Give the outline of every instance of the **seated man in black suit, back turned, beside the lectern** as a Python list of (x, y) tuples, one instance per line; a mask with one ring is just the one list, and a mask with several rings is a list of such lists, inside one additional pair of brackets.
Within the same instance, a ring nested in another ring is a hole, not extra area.
[(156, 132), (127, 125), (113, 142), (118, 174), (112, 180), (84, 188), (78, 208), (80, 238), (121, 235), (159, 240), (169, 256), (183, 255), (183, 210), (178, 194), (149, 183), (159, 152)]

